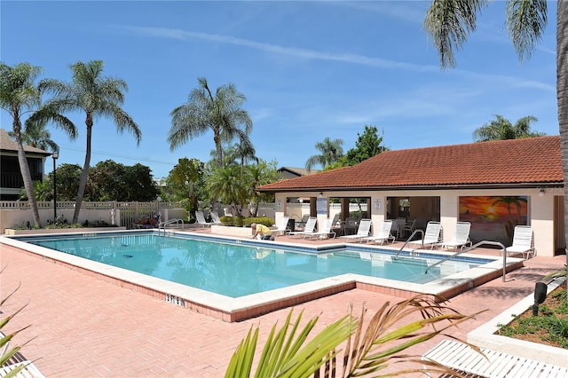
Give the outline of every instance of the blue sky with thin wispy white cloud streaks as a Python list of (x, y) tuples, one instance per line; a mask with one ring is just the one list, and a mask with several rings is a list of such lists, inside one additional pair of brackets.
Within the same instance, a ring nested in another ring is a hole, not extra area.
[[(477, 127), (501, 114), (534, 115), (535, 130), (558, 134), (556, 3), (531, 59), (520, 63), (504, 26), (504, 3), (478, 18), (441, 70), (422, 29), (429, 1), (375, 2), (0, 2), (0, 59), (43, 67), (71, 80), (69, 66), (102, 59), (105, 75), (129, 85), (123, 108), (142, 142), (98, 119), (91, 165), (112, 159), (149, 166), (166, 177), (183, 157), (208, 161), (212, 133), (173, 152), (170, 112), (205, 77), (212, 89), (233, 83), (246, 97), (256, 155), (278, 167), (304, 167), (324, 138), (347, 152), (365, 125), (384, 132), (390, 149), (470, 143)], [(59, 163), (83, 166), (84, 114), (67, 114), (75, 142), (55, 128)], [(12, 129), (2, 112), (0, 125)], [(51, 164), (45, 169), (51, 171)], [(393, 167), (396, 169), (396, 167)]]

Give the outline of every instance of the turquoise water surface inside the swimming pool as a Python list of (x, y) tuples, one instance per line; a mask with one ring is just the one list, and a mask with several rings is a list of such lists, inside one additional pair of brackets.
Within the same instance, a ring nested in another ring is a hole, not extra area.
[[(431, 256), (428, 260), (418, 256), (393, 259), (392, 251), (375, 253), (369, 248), (335, 248), (333, 252), (315, 254), (281, 246), (265, 248), (155, 233), (35, 237), (24, 241), (231, 297), (344, 273), (421, 284), (442, 277), (440, 266), (424, 273), (427, 264), (432, 263)], [(449, 270), (455, 272), (483, 262), (462, 260), (449, 264), (455, 264)]]

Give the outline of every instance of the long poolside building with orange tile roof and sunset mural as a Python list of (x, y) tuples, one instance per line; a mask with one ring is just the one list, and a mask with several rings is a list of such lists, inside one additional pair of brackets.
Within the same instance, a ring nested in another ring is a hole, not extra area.
[(335, 199), (344, 219), (343, 209), (358, 198), (374, 223), (437, 220), (451, 236), (456, 221), (470, 221), (472, 241), (503, 243), (516, 224), (531, 224), (539, 255), (554, 256), (565, 247), (559, 136), (385, 151), (351, 167), (257, 190), (275, 193), (277, 218), (286, 214), (289, 198), (311, 197), (319, 200), (312, 201), (312, 215), (327, 217), (325, 206)]

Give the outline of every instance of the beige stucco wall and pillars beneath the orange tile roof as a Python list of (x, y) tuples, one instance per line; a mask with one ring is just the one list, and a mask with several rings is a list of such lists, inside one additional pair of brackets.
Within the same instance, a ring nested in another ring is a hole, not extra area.
[[(319, 192), (318, 192), (319, 193)], [(287, 197), (312, 197), (318, 193), (295, 192), (276, 194), (276, 224), (280, 217), (288, 214)], [(536, 188), (527, 189), (481, 189), (481, 190), (426, 190), (426, 191), (361, 191), (361, 192), (323, 192), (324, 196), (330, 197), (370, 197), (371, 219), (374, 224), (383, 221), (387, 214), (386, 200), (388, 197), (438, 197), (440, 198), (440, 223), (444, 230), (445, 240), (449, 240), (453, 233), (455, 223), (458, 220), (458, 202), (461, 196), (526, 196), (528, 198), (529, 224), (533, 226), (534, 246), (539, 256), (554, 256), (555, 254), (555, 196), (562, 196), (563, 191), (547, 189), (544, 195), (539, 195)], [(380, 209), (377, 209), (375, 201), (381, 201)], [(280, 201), (280, 208), (278, 206)], [(419, 202), (420, 203), (420, 202)], [(430, 211), (428, 209), (427, 211)], [(319, 215), (319, 221), (327, 216)], [(333, 215), (330, 215), (333, 217)], [(561, 238), (560, 238), (561, 239)], [(507, 246), (506, 246), (507, 247)]]

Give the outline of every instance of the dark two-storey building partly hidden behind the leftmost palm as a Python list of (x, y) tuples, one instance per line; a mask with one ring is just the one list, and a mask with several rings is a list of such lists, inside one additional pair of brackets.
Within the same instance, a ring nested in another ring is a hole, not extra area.
[[(51, 153), (40, 148), (24, 146), (32, 180), (43, 182), (43, 164)], [(18, 144), (4, 129), (0, 129), (0, 201), (20, 198), (24, 182), (18, 161)]]

